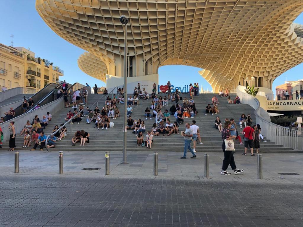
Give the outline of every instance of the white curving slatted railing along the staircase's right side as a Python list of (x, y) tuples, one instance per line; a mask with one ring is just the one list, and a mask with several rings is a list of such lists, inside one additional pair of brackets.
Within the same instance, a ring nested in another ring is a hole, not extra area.
[(245, 87), (237, 87), (237, 95), (241, 103), (248, 104), (255, 109), (256, 123), (260, 125), (262, 135), (275, 144), (303, 151), (303, 132), (298, 129), (290, 129), (264, 120), (260, 115), (260, 102), (255, 97), (245, 92)]

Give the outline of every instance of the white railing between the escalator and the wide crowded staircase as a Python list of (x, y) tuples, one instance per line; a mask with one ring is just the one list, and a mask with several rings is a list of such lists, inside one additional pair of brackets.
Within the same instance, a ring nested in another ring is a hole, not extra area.
[[(18, 117), (15, 117), (13, 121), (15, 121), (15, 129), (16, 129), (16, 134), (18, 135), (21, 130), (23, 129), (24, 125), (26, 124), (26, 121), (29, 120), (32, 122), (32, 119), (34, 119), (35, 115), (38, 115), (40, 119), (42, 119), (43, 115), (46, 115), (47, 112), (50, 112), (52, 115), (57, 113), (58, 111), (62, 110), (65, 107), (65, 102), (63, 100), (63, 97), (60, 97), (59, 99), (52, 101), (48, 104), (45, 104), (44, 106), (32, 110), (28, 113), (24, 113)], [(2, 128), (3, 131), (3, 140), (2, 142), (6, 142), (9, 140), (9, 131), (8, 131), (8, 126), (9, 126), (10, 120), (5, 121), (0, 124), (0, 127)]]

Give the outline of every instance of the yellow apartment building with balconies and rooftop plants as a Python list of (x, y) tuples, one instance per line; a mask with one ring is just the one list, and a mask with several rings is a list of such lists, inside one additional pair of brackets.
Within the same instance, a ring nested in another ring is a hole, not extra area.
[(23, 47), (0, 43), (0, 91), (26, 87), (38, 91), (49, 83), (58, 83), (63, 70)]

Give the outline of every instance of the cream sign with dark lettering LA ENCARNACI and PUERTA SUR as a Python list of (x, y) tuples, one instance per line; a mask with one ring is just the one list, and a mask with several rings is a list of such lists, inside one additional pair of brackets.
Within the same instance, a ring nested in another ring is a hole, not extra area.
[(268, 110), (303, 110), (303, 100), (267, 101)]

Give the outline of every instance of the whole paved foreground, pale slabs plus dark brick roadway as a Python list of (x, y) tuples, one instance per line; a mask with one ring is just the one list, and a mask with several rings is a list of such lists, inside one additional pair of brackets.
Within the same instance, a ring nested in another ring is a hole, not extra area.
[[(303, 154), (264, 153), (264, 179), (257, 179), (257, 157), (235, 154), (243, 174), (220, 175), (223, 153), (180, 160), (181, 152), (110, 154), (22, 151), (20, 173), (14, 153), (0, 153), (0, 227), (9, 226), (303, 226)], [(100, 170), (82, 170), (101, 168)], [(228, 169), (231, 170), (231, 169)], [(280, 175), (278, 173), (300, 175)]]

